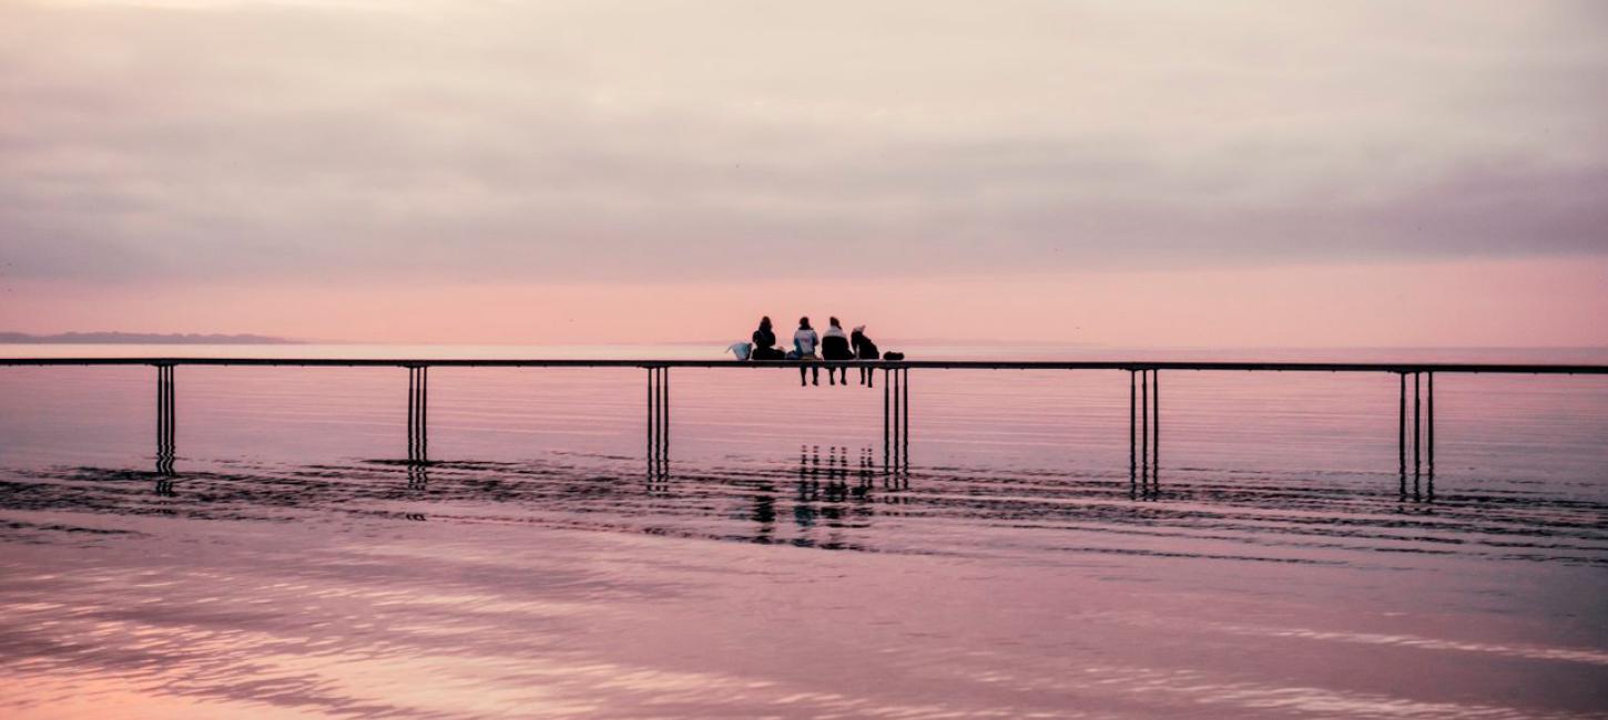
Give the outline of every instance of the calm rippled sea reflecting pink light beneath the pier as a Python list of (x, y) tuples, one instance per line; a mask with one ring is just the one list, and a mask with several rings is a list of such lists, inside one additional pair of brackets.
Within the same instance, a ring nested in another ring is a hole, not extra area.
[[(677, 347), (0, 346), (0, 355), (719, 357)], [(910, 347), (912, 358), (1594, 362), (1605, 350)], [(1608, 717), (1608, 378), (883, 389), (674, 370), (0, 368), (0, 715)], [(1409, 458), (1410, 463), (1410, 458)]]

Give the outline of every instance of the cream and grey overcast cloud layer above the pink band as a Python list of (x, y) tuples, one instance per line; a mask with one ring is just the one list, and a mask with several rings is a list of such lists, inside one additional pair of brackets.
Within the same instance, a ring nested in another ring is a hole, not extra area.
[(1605, 8), (0, 0), (0, 272), (1602, 256)]

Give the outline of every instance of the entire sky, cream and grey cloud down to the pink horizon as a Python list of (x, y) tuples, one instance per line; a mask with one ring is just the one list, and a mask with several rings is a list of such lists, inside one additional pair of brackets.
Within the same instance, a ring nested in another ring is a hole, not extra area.
[(1608, 346), (1600, 2), (0, 0), (0, 329)]

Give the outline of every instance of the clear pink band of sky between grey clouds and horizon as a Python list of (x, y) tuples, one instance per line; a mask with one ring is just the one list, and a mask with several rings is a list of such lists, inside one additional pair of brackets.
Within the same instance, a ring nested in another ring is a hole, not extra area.
[(836, 313), (888, 339), (1121, 347), (1608, 346), (1608, 260), (1473, 260), (764, 283), (29, 286), (10, 328), (363, 342), (743, 339)]

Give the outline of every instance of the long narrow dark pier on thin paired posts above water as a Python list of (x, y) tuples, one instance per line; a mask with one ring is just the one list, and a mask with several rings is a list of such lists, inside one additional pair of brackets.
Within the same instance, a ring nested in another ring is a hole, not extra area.
[[(510, 358), (254, 358), (254, 357), (42, 357), (0, 358), (0, 366), (96, 366), (145, 365), (156, 368), (156, 469), (175, 476), (177, 400), (175, 373), (193, 366), (310, 366), (310, 368), (407, 368), (408, 371), (408, 479), (423, 482), (429, 460), (429, 368), (638, 368), (648, 373), (646, 437), (650, 482), (669, 477), (671, 370), (672, 368), (872, 368), (883, 374), (883, 469), (910, 469), (910, 371), (912, 370), (1106, 370), (1129, 374), (1129, 485), (1153, 497), (1161, 487), (1161, 373), (1386, 373), (1399, 378), (1397, 476), (1407, 498), (1409, 448), (1412, 497), (1423, 498), (1428, 479), (1434, 498), (1434, 376), (1436, 374), (1608, 374), (1608, 365), (1505, 365), (1505, 363), (1309, 363), (1309, 362), (1130, 362), (1130, 360), (510, 360)], [(1409, 386), (1412, 403), (1409, 408)], [(1410, 419), (1409, 419), (1410, 418)], [(1409, 424), (1412, 431), (1409, 432)], [(1410, 436), (1410, 439), (1409, 439)], [(167, 489), (170, 490), (170, 482)], [(162, 490), (159, 482), (158, 490)]]

